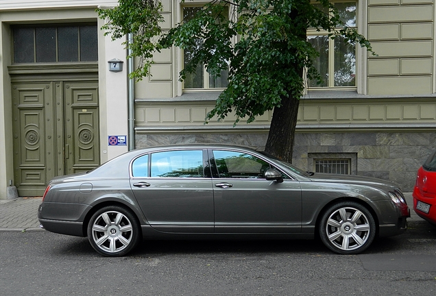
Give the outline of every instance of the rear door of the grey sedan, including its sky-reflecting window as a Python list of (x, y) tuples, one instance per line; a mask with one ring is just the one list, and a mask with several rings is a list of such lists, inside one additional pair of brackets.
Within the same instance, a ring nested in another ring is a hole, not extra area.
[(204, 153), (202, 149), (159, 151), (132, 162), (130, 184), (154, 229), (213, 232), (212, 179)]

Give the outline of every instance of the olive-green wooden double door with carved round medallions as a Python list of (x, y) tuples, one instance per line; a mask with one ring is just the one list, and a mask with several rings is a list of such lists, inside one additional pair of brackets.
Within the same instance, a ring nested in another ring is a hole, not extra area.
[(99, 165), (97, 81), (13, 82), (14, 184), (41, 196), (51, 178)]

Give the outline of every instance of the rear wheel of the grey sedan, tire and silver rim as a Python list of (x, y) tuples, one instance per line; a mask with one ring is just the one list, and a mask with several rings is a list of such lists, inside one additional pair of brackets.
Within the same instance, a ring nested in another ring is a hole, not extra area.
[(106, 206), (97, 210), (88, 223), (88, 240), (103, 256), (128, 254), (141, 238), (141, 227), (130, 212), (121, 206)]

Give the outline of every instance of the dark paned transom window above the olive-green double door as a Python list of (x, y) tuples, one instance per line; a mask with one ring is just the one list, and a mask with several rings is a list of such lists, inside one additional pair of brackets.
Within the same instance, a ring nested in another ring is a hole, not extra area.
[(13, 27), (14, 63), (97, 62), (97, 25)]

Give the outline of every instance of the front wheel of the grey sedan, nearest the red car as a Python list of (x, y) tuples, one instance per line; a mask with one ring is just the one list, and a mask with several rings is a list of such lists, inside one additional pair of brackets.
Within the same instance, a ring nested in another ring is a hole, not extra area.
[(371, 245), (375, 236), (374, 217), (354, 201), (330, 206), (319, 224), (319, 237), (337, 254), (359, 254)]

